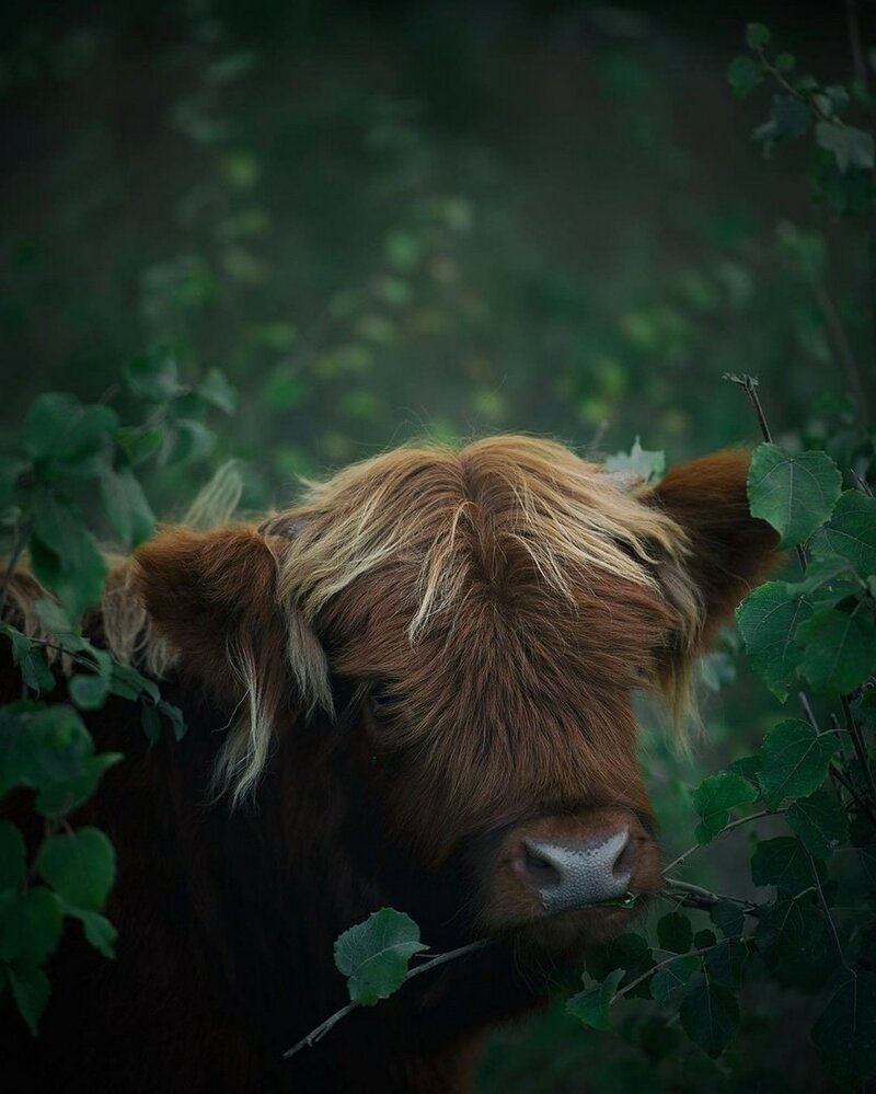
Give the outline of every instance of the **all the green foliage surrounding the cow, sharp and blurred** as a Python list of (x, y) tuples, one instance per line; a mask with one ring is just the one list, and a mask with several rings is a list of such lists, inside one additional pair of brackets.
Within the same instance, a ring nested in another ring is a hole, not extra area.
[[(77, 612), (100, 596), (97, 543), (142, 540), (147, 496), (158, 511), (175, 505), (214, 445), (252, 461), (253, 508), (285, 499), (300, 472), (424, 427), (437, 438), (522, 428), (609, 451), (638, 433), (677, 458), (748, 435), (744, 401), (715, 394), (716, 378), (745, 360), (775, 431), (757, 460), (777, 463), (780, 482), (772, 496), (754, 486), (752, 506), (789, 546), (806, 540), (807, 568), (747, 599), (747, 656), (726, 635), (708, 658), (705, 767), (648, 744), (661, 829), (682, 852), (695, 829), (703, 884), (675, 885), (676, 910), (591, 956), (581, 994), (592, 998), (575, 1017), (561, 1001), (497, 1033), (481, 1089), (566, 1091), (585, 1072), (596, 1092), (661, 1080), (738, 1089), (784, 1084), (792, 1062), (806, 1085), (809, 1057), (787, 1047), (798, 1026), (841, 1082), (849, 1069), (867, 1073), (876, 841), (862, 805), (872, 809), (871, 760), (850, 728), (872, 748), (876, 531), (862, 484), (873, 435), (855, 359), (872, 319), (850, 291), (866, 250), (855, 227), (873, 208), (866, 68), (842, 84), (817, 80), (766, 27), (749, 27), (728, 74), (742, 111), (774, 92), (753, 135), (768, 173), (716, 122), (723, 66), (710, 72), (700, 36), (685, 39), (665, 14), (544, 5), (518, 37), (512, 21), (496, 24), (491, 42), (507, 48), (482, 49), (468, 9), (436, 23), (431, 5), (412, 5), (389, 28), (349, 5), (341, 19), (299, 7), (244, 16), (205, 0), (168, 12), (161, 42), (150, 30), (131, 65), (137, 5), (60, 15), (37, 3), (0, 50), (0, 94), (25, 135), (11, 141), (22, 169), (0, 194), (0, 352), (16, 368), (0, 406), (0, 449), (12, 453), (0, 461), (0, 510), (7, 556), (30, 543), (55, 592), (41, 626), (61, 647), (4, 625), (27, 699), (0, 714), (0, 796), (33, 795), (49, 838), (61, 838), (114, 762), (89, 744), (87, 712), (124, 699), (139, 703), (150, 738), (163, 719), (182, 732), (150, 681), (77, 630)], [(833, 64), (834, 43), (819, 38), (810, 27), (808, 50)], [(357, 39), (379, 43), (377, 64)], [(718, 32), (712, 45), (723, 49)], [(551, 79), (530, 79), (545, 49)], [(388, 69), (404, 73), (395, 94)], [(46, 134), (36, 154), (33, 133)], [(810, 157), (811, 223), (794, 195), (797, 150)], [(772, 230), (780, 203), (800, 224)], [(28, 410), (36, 392), (71, 387), (81, 402), (45, 396)], [(208, 410), (229, 413), (235, 391), (233, 430), (212, 436)], [(21, 422), (26, 444), (12, 439)], [(619, 458), (645, 477), (662, 470), (662, 453), (638, 444)], [(807, 467), (818, 495), (796, 488)], [(73, 672), (56, 682), (59, 658)], [(61, 705), (33, 698), (49, 695)], [(781, 716), (776, 702), (788, 705)], [(756, 829), (763, 839), (740, 875), (736, 849)], [(41, 954), (62, 917), (106, 953), (112, 928), (103, 910), (64, 903), (58, 875), (37, 871), (42, 824), (24, 834), (22, 859), (21, 833), (0, 827), (0, 940), (25, 920), (35, 936), (0, 943), (0, 959), (35, 1024)], [(93, 866), (105, 878), (106, 857), (101, 867), (96, 844), (91, 853), (84, 876)], [(809, 855), (823, 866), (802, 891), (754, 888), (756, 861), (758, 878), (793, 888)], [(714, 902), (713, 889), (739, 896)], [(736, 1020), (725, 992), (741, 1024), (713, 1063), (705, 1050)], [(590, 1028), (588, 1014), (599, 1016)]]

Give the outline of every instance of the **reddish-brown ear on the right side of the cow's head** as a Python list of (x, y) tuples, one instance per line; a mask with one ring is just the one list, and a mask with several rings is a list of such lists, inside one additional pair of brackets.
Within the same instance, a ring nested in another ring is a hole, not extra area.
[(679, 463), (642, 497), (670, 516), (688, 538), (684, 568), (701, 604), (701, 644), (781, 561), (777, 533), (749, 513), (749, 463), (748, 452), (737, 449)]

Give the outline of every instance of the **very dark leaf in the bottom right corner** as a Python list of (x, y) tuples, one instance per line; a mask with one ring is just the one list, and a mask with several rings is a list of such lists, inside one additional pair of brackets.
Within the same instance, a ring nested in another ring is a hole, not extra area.
[(845, 978), (812, 1027), (812, 1040), (844, 1074), (862, 1079), (876, 1071), (876, 976)]

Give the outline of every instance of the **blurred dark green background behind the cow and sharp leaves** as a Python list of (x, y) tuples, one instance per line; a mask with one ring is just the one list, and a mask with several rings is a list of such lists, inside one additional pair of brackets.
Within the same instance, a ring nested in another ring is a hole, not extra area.
[[(193, 381), (221, 369), (239, 403), (189, 438), (182, 479), (155, 476), (159, 513), (231, 456), (257, 509), (415, 436), (604, 454), (638, 435), (670, 461), (756, 441), (726, 371), (760, 377), (780, 437), (841, 406), (823, 292), (865, 346), (863, 232), (811, 203), (806, 152), (752, 143), (764, 102), (725, 76), (751, 19), (826, 83), (849, 74), (841, 4), (20, 5), (0, 47), (0, 441), (45, 390), (124, 410), (123, 366), (157, 347)], [(733, 675), (726, 652), (708, 670)], [(691, 842), (687, 785), (776, 710), (744, 679), (707, 700), (698, 761), (646, 736), (668, 853)], [(745, 838), (691, 876), (745, 895)], [(804, 1004), (776, 991), (731, 1089), (818, 1089)], [(636, 1022), (619, 1040), (552, 1010), (499, 1032), (479, 1089), (726, 1082)]]

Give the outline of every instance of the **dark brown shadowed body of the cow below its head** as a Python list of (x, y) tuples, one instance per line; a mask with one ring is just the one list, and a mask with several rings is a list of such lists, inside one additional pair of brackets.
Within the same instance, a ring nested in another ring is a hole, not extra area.
[[(9, 668), (3, 682), (3, 700), (16, 698)], [(127, 757), (73, 818), (103, 828), (117, 850), (107, 910), (119, 932), (117, 959), (100, 956), (68, 921), (48, 968), (53, 994), (38, 1039), (12, 1009), (0, 1012), (3, 1090), (466, 1089), (479, 1030), (527, 1009), (543, 984), (527, 977), (520, 953), (515, 970), (508, 943), (420, 978), (396, 999), (354, 1013), (316, 1047), (281, 1059), (347, 1002), (332, 944), (371, 910), (407, 909), (438, 951), (471, 941), (470, 924), (453, 915), (459, 879), (418, 872), (364, 838), (357, 811), (371, 806), (342, 793), (341, 757), (326, 758), (319, 787), (312, 762), (306, 764), (314, 805), (307, 819), (284, 810), (288, 795), (302, 793), (289, 773), (304, 774), (291, 739), (276, 758), (284, 774), (266, 778), (257, 808), (232, 814), (208, 804), (216, 734), (227, 719), (193, 707), (191, 695), (173, 687), (164, 690), (188, 715), (180, 744), (168, 733), (150, 747), (138, 711), (125, 701), (89, 719), (101, 750)], [(301, 742), (304, 751), (311, 745)], [(11, 805), (3, 815), (36, 839), (42, 824), (26, 797)]]

